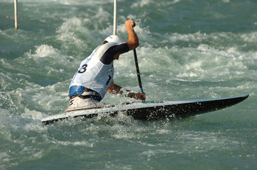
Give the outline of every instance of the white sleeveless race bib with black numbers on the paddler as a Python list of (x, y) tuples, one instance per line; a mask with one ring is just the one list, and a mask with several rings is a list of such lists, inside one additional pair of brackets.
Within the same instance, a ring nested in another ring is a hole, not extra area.
[(106, 43), (97, 47), (89, 57), (84, 59), (80, 68), (74, 75), (70, 86), (84, 86), (88, 89), (97, 91), (104, 98), (114, 77), (114, 62), (103, 64), (100, 58), (109, 49), (117, 45), (116, 43)]

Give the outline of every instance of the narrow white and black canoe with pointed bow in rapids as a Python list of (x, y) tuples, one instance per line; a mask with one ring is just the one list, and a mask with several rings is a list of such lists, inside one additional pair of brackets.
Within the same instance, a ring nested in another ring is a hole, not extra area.
[(187, 118), (193, 115), (218, 111), (222, 108), (233, 106), (248, 98), (248, 95), (234, 96), (228, 98), (209, 98), (209, 99), (190, 99), (173, 100), (163, 102), (138, 102), (124, 103), (122, 106), (109, 106), (104, 108), (91, 108), (78, 111), (60, 113), (42, 118), (41, 122), (45, 125), (55, 123), (58, 120), (68, 118), (93, 118), (97, 115), (108, 113), (116, 115), (124, 113), (136, 120), (162, 120), (165, 118)]

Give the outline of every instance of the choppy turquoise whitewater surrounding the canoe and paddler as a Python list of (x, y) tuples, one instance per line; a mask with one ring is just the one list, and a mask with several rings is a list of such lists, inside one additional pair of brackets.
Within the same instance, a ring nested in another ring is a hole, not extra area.
[[(255, 0), (118, 1), (117, 33), (136, 21), (147, 101), (250, 94), (182, 120), (119, 114), (41, 125), (67, 108), (78, 65), (113, 30), (113, 1), (0, 0), (0, 169), (256, 169)], [(115, 82), (137, 91), (133, 52)], [(105, 103), (128, 100), (107, 95)]]

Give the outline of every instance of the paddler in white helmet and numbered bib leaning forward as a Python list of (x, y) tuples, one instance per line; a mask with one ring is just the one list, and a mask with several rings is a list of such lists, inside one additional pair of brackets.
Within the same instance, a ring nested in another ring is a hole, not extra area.
[(137, 100), (146, 99), (145, 93), (128, 91), (114, 84), (113, 79), (114, 60), (119, 60), (121, 54), (136, 49), (139, 45), (138, 36), (133, 29), (135, 26), (134, 21), (126, 21), (127, 42), (118, 35), (110, 35), (104, 40), (103, 45), (99, 45), (81, 62), (70, 83), (70, 104), (66, 111), (104, 107), (104, 103), (100, 101), (107, 91)]

